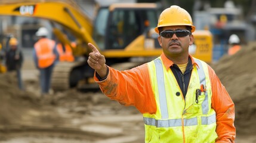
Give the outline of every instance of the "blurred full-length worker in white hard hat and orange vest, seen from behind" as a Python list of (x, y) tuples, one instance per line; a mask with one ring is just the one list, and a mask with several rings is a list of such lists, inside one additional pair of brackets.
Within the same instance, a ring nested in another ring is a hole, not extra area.
[(33, 58), (36, 67), (40, 72), (41, 95), (49, 94), (51, 87), (51, 74), (55, 61), (58, 59), (58, 52), (55, 42), (47, 38), (48, 30), (41, 27), (36, 32), (39, 40), (34, 45)]

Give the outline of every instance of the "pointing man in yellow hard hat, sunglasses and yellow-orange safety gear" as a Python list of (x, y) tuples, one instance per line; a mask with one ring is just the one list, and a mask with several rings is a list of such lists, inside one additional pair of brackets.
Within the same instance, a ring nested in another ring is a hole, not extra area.
[(235, 107), (208, 64), (189, 55), (195, 26), (181, 7), (162, 11), (155, 32), (163, 53), (118, 71), (91, 43), (88, 64), (104, 95), (143, 114), (145, 142), (234, 142)]

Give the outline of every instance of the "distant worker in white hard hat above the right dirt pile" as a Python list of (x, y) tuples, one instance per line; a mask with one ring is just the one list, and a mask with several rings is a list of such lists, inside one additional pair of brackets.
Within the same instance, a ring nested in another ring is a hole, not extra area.
[(230, 47), (229, 47), (229, 50), (227, 51), (229, 55), (236, 54), (236, 52), (238, 52), (241, 49), (240, 39), (238, 35), (235, 35), (235, 34), (230, 35), (229, 44), (230, 44)]

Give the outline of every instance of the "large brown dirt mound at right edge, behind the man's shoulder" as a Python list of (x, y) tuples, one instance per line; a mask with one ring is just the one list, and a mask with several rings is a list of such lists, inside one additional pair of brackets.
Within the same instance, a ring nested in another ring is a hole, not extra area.
[(212, 65), (235, 102), (238, 132), (256, 132), (256, 43), (252, 42), (235, 55), (225, 55)]

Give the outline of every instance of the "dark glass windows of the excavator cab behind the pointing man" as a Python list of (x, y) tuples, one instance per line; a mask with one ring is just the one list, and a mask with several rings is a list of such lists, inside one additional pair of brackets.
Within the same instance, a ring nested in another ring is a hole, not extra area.
[(146, 35), (149, 29), (157, 25), (156, 7), (124, 6), (125, 4), (114, 4), (102, 7), (98, 11), (93, 38), (103, 51), (125, 49), (138, 36)]

